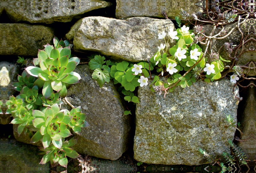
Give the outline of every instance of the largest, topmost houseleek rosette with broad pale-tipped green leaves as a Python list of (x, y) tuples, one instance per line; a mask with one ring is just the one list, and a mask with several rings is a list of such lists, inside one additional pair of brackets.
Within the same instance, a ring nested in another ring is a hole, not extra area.
[(35, 84), (39, 88), (43, 86), (45, 98), (50, 97), (53, 90), (59, 92), (61, 97), (66, 97), (66, 83), (75, 84), (81, 79), (78, 73), (73, 72), (80, 59), (77, 57), (69, 58), (70, 55), (69, 47), (57, 49), (47, 44), (44, 50), (38, 51), (40, 68), (33, 66), (26, 68), (30, 75), (39, 77)]

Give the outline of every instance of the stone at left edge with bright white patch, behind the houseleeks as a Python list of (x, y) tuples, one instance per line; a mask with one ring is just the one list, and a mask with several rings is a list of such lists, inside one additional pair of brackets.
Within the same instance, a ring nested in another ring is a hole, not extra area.
[[(17, 76), (20, 66), (9, 62), (0, 62), (0, 100), (9, 100), (9, 96), (16, 91), (13, 89), (12, 83), (17, 82)], [(6, 107), (1, 107), (3, 113), (6, 112)], [(11, 114), (0, 114), (0, 124), (9, 124), (12, 121)]]

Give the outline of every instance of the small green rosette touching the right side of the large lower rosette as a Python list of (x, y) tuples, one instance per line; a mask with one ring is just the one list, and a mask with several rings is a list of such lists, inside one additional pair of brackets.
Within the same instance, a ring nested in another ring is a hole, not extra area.
[(76, 132), (77, 134), (81, 133), (81, 127), (87, 127), (89, 126), (89, 124), (87, 123), (87, 121), (85, 121), (86, 118), (86, 114), (81, 113), (82, 109), (81, 106), (77, 107), (77, 108), (73, 108), (70, 111), (70, 114), (72, 116), (72, 120), (71, 122), (68, 124), (68, 126), (70, 128), (72, 128), (72, 130), (74, 132)]

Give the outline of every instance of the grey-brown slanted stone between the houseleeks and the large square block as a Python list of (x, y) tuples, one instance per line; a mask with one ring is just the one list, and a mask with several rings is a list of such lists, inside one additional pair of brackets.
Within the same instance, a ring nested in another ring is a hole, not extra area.
[[(78, 65), (80, 83), (68, 89), (67, 100), (75, 107), (81, 106), (87, 113), (90, 126), (82, 128), (77, 144), (73, 147), (78, 153), (103, 159), (116, 160), (128, 148), (131, 117), (124, 115), (124, 107), (113, 82), (102, 88), (92, 79), (88, 65)], [(70, 108), (61, 105), (61, 108)]]

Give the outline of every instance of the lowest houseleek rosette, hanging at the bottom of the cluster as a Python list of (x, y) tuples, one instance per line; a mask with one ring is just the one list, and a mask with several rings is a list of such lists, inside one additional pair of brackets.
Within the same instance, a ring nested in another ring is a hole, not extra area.
[(69, 148), (75, 145), (76, 142), (77, 139), (72, 138), (69, 141), (63, 142), (61, 148), (56, 148), (53, 144), (50, 144), (49, 147), (46, 148), (40, 148), (40, 150), (44, 151), (45, 153), (40, 163), (45, 164), (51, 161), (52, 166), (56, 166), (59, 163), (61, 166), (67, 167), (68, 159), (66, 158), (66, 156), (71, 157), (73, 159), (79, 157), (79, 154), (76, 153), (76, 151)]

